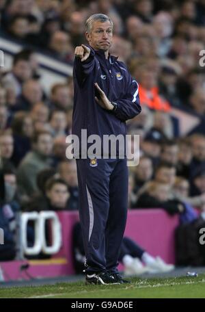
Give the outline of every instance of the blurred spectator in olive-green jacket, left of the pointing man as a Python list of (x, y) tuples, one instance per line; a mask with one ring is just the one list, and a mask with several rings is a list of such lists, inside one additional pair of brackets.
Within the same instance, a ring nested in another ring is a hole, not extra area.
[(38, 190), (36, 177), (40, 170), (51, 166), (53, 138), (50, 132), (34, 133), (32, 149), (20, 162), (17, 171), (19, 191), (25, 198)]

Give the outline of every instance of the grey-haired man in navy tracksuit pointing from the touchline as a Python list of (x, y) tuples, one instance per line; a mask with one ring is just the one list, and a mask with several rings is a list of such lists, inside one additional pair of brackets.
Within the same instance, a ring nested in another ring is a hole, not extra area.
[[(95, 134), (126, 135), (126, 120), (141, 112), (138, 84), (118, 57), (109, 55), (113, 23), (104, 14), (87, 19), (89, 44), (76, 47), (72, 134), (81, 142)], [(83, 139), (82, 139), (83, 140)], [(118, 274), (118, 256), (124, 235), (128, 198), (126, 157), (77, 159), (79, 213), (86, 257), (86, 284), (125, 283)], [(104, 151), (110, 155), (110, 151)]]

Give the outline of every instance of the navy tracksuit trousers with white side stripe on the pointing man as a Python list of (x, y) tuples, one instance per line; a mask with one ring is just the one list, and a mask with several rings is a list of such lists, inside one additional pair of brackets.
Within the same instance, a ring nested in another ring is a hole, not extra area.
[(128, 168), (126, 159), (77, 159), (79, 214), (86, 273), (118, 272), (126, 226)]

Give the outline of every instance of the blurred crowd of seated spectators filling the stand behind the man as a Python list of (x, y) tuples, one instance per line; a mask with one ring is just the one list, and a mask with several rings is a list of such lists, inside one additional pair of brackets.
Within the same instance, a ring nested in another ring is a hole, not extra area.
[[(19, 210), (78, 209), (77, 169), (66, 159), (72, 77), (45, 92), (36, 52), (72, 65), (97, 12), (112, 18), (111, 53), (139, 81), (142, 112), (127, 124), (140, 135), (129, 208), (162, 207), (182, 222), (196, 217), (193, 207), (205, 209), (205, 1), (0, 0), (0, 37), (23, 46), (0, 71), (0, 227)], [(186, 136), (175, 108), (200, 120)]]

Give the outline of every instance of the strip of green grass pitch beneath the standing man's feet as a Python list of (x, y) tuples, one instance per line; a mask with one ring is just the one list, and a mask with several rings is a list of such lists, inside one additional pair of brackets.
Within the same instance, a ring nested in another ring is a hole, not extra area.
[(0, 288), (0, 298), (205, 298), (205, 275), (178, 278), (131, 278), (131, 284), (84, 282)]

